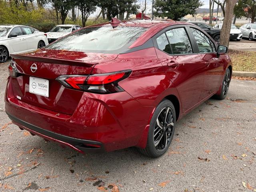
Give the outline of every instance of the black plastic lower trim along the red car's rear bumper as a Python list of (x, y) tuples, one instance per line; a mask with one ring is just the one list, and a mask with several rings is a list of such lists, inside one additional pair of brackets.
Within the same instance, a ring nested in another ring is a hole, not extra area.
[[(101, 142), (98, 141), (91, 141), (91, 140), (83, 140), (83, 139), (77, 139), (77, 138), (72, 138), (69, 136), (64, 136), (58, 133), (54, 133), (45, 129), (42, 129), (38, 126), (34, 126), (28, 122), (25, 122), (23, 120), (20, 120), (19, 118), (16, 118), (15, 116), (9, 114), (8, 112), (6, 112), (6, 114), (9, 116), (9, 118), (14, 121), (17, 122), (18, 124), (21, 124), (22, 126), (24, 126), (25, 128), (28, 128), (30, 130), (33, 130), (39, 134), (54, 138), (56, 140), (60, 140), (63, 142), (66, 142), (68, 144), (71, 144), (72, 146), (74, 146), (75, 148), (78, 148), (79, 150), (83, 151), (83, 152), (88, 152), (88, 153), (102, 153), (102, 152), (106, 152), (104, 149), (104, 146)], [(28, 130), (29, 131), (29, 130)], [(101, 146), (100, 148), (87, 148), (86, 146), (84, 146), (83, 144), (94, 144), (94, 145), (99, 145)]]

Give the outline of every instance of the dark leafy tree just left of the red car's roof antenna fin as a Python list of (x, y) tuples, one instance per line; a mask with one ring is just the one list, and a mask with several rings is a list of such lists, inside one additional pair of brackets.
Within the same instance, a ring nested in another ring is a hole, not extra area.
[(97, 0), (76, 0), (75, 4), (81, 12), (82, 26), (85, 27), (85, 23), (90, 14), (96, 11), (98, 2)]

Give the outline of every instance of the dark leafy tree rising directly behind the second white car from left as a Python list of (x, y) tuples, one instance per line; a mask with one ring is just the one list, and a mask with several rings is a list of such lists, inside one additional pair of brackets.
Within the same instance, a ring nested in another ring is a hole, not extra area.
[[(58, 10), (60, 14), (60, 20), (62, 24), (65, 24), (65, 20), (68, 16), (68, 11), (74, 5), (74, 1), (72, 0), (51, 0), (53, 7)], [(57, 12), (56, 12), (57, 15)]]

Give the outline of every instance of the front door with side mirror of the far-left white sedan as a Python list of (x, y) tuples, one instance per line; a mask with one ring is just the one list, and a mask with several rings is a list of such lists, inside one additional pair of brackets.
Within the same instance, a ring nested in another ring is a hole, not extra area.
[(8, 37), (8, 42), (13, 50), (12, 52), (22, 52), (28, 49), (26, 37), (23, 35), (20, 27), (14, 27), (9, 36), (11, 34), (17, 34), (17, 37)]

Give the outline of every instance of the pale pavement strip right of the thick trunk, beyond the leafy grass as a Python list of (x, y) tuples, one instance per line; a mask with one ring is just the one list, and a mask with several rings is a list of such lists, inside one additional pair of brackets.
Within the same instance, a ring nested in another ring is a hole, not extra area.
[(228, 48), (239, 51), (256, 51), (256, 41), (249, 41), (248, 39), (230, 41)]

